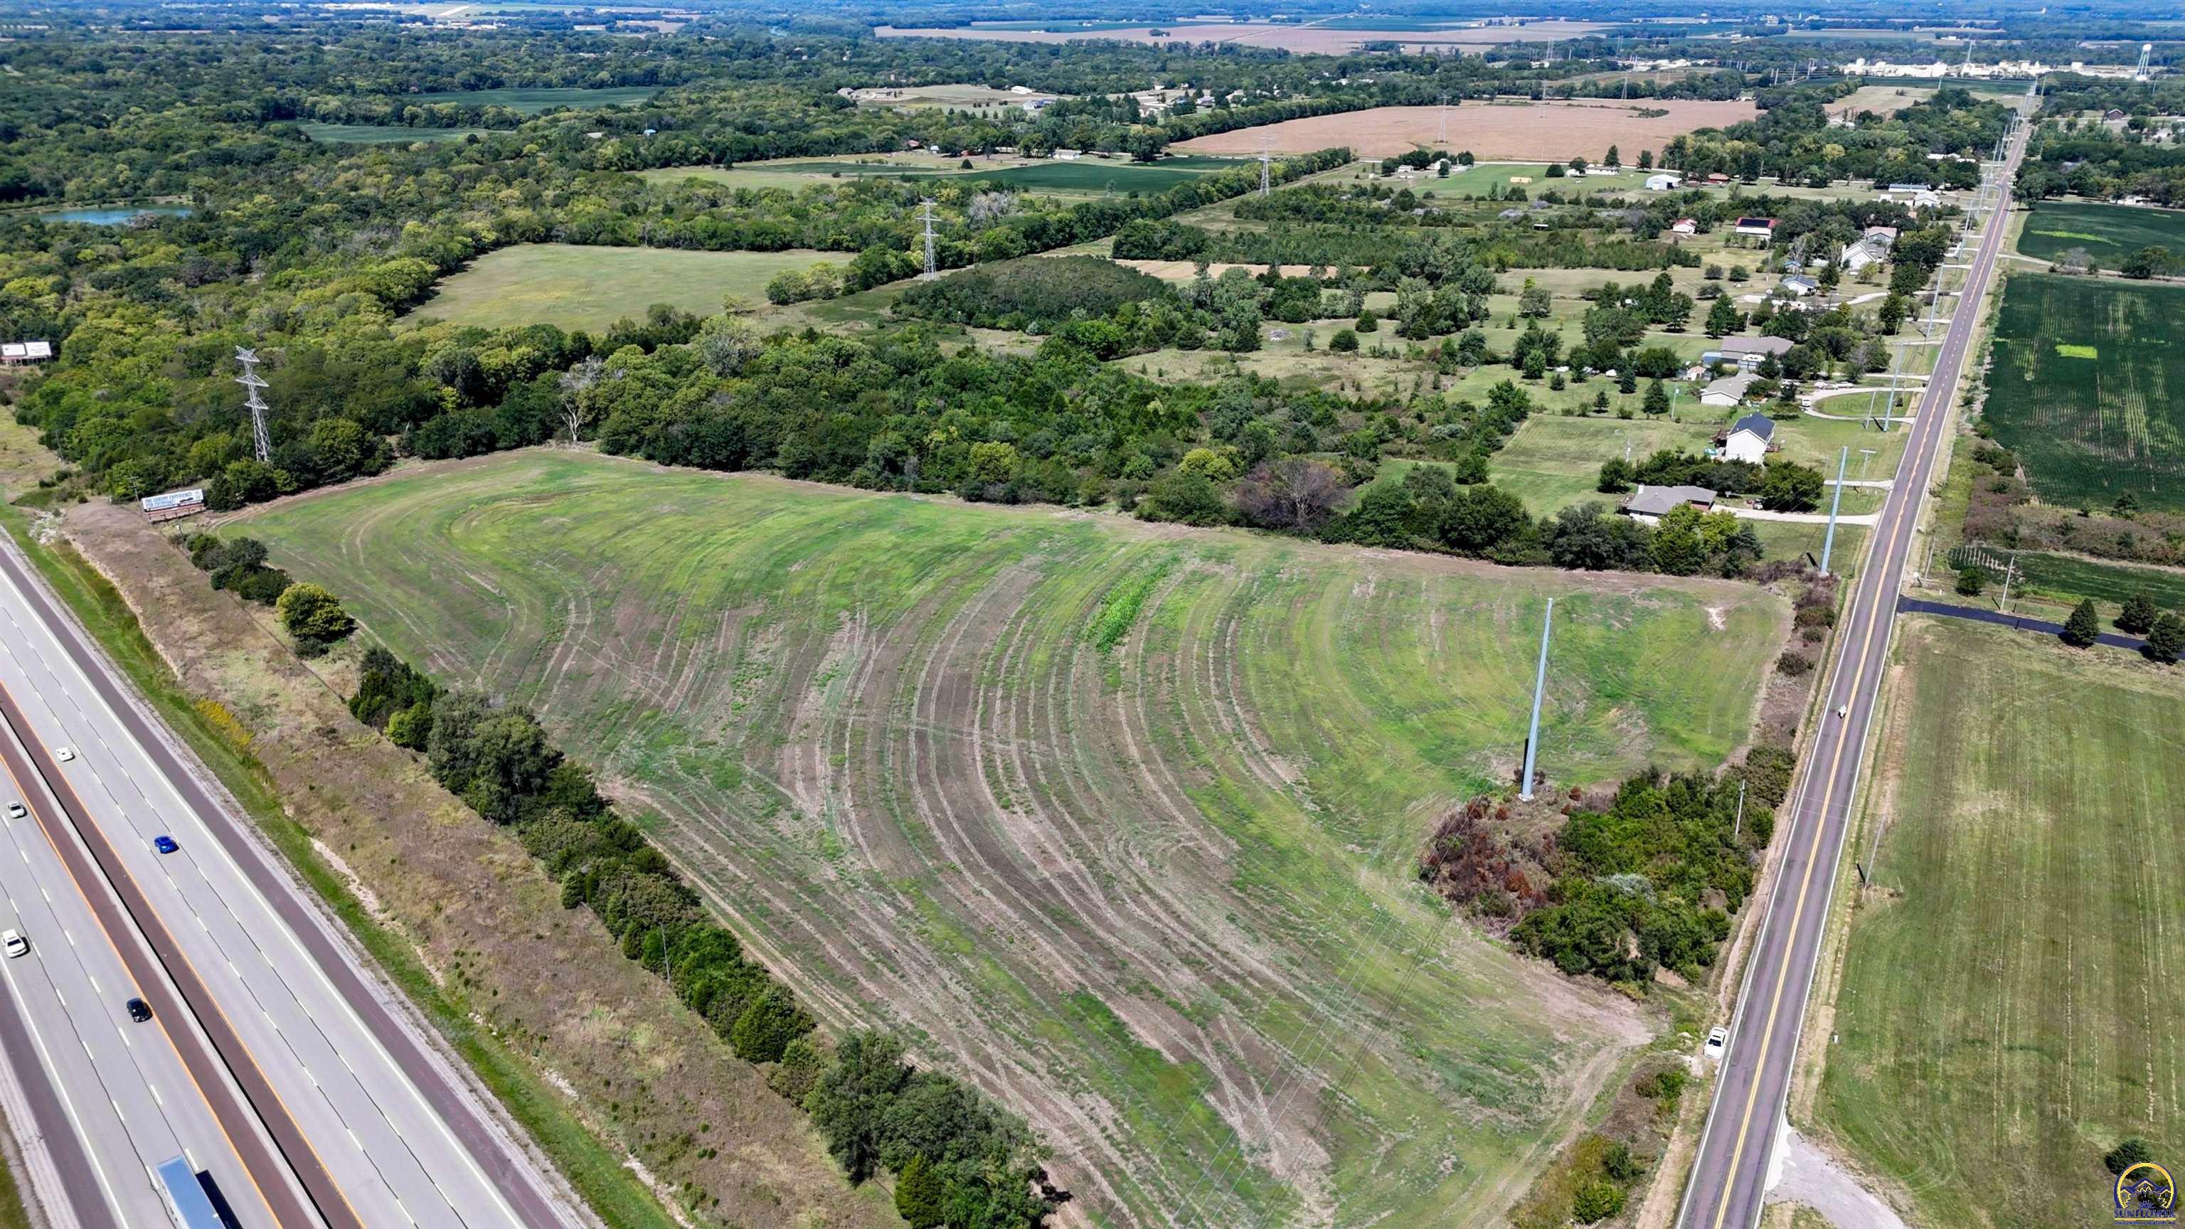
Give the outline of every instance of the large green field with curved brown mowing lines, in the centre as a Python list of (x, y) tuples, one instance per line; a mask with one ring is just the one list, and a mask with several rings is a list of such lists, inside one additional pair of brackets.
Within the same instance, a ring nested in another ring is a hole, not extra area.
[(835, 1026), (1036, 1122), (1097, 1222), (1497, 1225), (1652, 1030), (1414, 877), (1514, 774), (1713, 765), (1787, 632), (1505, 571), (527, 450), (236, 529), (533, 704)]

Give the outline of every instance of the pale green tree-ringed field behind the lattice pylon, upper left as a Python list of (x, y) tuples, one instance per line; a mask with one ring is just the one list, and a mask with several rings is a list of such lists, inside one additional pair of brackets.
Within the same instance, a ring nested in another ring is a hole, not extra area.
[(645, 319), (653, 304), (714, 315), (730, 295), (765, 304), (782, 269), (848, 265), (841, 251), (686, 251), (671, 247), (579, 247), (520, 243), (487, 251), (441, 278), (413, 319), (507, 328), (557, 324), (601, 332), (621, 317)]

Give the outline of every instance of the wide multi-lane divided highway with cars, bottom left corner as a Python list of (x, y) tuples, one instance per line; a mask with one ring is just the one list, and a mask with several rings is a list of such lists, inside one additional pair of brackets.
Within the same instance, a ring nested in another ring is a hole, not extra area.
[(146, 1170), (177, 1152), (245, 1229), (583, 1222), (11, 545), (0, 761), (31, 809), (7, 820), (0, 890), (33, 943), (0, 962), (28, 1047), (0, 1041), (76, 1222), (166, 1225)]

